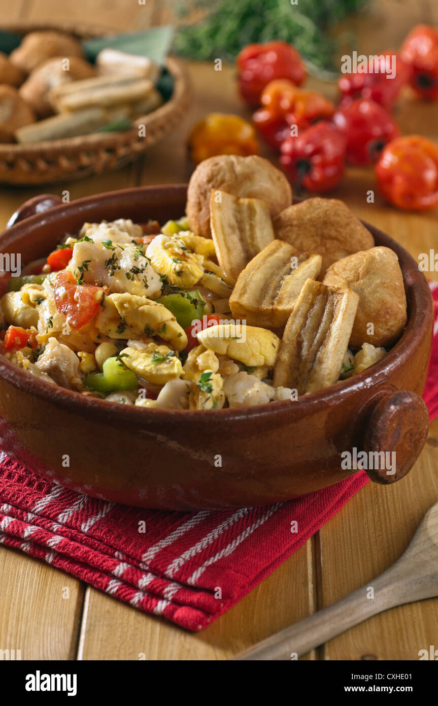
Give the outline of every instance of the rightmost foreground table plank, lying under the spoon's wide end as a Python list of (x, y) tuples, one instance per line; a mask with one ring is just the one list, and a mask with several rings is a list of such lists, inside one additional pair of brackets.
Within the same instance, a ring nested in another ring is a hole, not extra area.
[[(322, 604), (327, 606), (391, 566), (438, 500), (438, 419), (408, 477), (386, 488), (368, 484), (320, 530)], [(364, 600), (368, 600), (364, 592)], [(330, 640), (324, 659), (418, 659), (437, 642), (438, 598), (380, 614)]]

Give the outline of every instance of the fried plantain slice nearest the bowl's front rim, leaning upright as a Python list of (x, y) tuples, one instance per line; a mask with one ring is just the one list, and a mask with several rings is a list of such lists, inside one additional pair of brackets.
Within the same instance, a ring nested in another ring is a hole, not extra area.
[(306, 280), (284, 329), (274, 387), (293, 388), (304, 395), (334, 385), (358, 303), (358, 294), (351, 289)]

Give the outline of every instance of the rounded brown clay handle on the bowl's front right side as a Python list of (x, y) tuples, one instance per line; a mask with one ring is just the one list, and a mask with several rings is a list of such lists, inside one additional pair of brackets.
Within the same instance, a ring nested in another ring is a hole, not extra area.
[(370, 479), (386, 485), (406, 476), (426, 443), (428, 430), (429, 412), (420, 395), (387, 385), (374, 402), (363, 440), (369, 460), (382, 457), (371, 457), (372, 452), (385, 453), (383, 464), (373, 463), (378, 467), (367, 469)]

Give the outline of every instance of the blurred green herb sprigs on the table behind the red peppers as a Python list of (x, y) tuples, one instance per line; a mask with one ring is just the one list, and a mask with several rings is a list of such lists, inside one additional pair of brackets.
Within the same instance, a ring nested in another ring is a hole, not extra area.
[(330, 31), (368, 1), (178, 0), (174, 12), (179, 18), (202, 8), (206, 17), (180, 28), (174, 49), (191, 59), (234, 61), (246, 44), (284, 40), (298, 49), (310, 68), (334, 71), (337, 42)]

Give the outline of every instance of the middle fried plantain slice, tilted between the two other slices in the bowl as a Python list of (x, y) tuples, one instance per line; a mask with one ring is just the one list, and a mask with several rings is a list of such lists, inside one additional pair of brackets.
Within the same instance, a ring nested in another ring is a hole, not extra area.
[(273, 240), (238, 276), (230, 307), (234, 318), (252, 326), (282, 328), (305, 280), (316, 280), (322, 256), (298, 253), (289, 243)]

